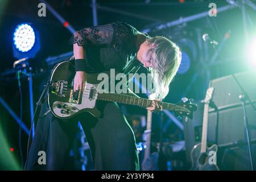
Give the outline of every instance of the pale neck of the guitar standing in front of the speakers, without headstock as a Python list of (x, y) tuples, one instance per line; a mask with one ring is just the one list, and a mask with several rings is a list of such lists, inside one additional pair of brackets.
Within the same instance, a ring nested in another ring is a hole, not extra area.
[(202, 139), (201, 139), (201, 153), (207, 151), (207, 130), (208, 130), (208, 110), (209, 104), (204, 105), (204, 117), (203, 117), (203, 129), (202, 129)]

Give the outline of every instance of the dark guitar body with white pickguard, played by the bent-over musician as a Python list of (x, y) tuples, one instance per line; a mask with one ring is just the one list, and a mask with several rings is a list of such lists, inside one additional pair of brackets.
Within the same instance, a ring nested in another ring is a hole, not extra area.
[[(91, 99), (85, 97), (86, 92), (79, 92), (77, 100), (80, 99), (80, 101), (77, 101), (76, 98), (70, 98), (70, 96), (72, 96), (71, 85), (75, 74), (75, 67), (69, 61), (61, 62), (53, 68), (50, 78), (51, 89), (48, 94), (48, 105), (53, 115), (58, 118), (69, 119), (80, 113), (89, 112), (94, 117), (100, 117), (101, 113), (96, 107), (97, 93), (94, 93)], [(56, 82), (55, 86), (53, 86), (54, 82)], [(57, 93), (57, 84), (67, 85), (67, 90), (60, 90), (59, 93)], [(97, 84), (97, 74), (86, 74), (86, 88), (97, 89)], [(61, 110), (63, 113), (61, 113)]]

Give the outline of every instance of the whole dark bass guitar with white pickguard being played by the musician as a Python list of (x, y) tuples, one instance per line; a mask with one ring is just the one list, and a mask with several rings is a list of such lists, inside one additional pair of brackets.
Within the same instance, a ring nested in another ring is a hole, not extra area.
[[(69, 61), (61, 62), (52, 69), (49, 80), (48, 106), (57, 118), (68, 119), (83, 112), (89, 112), (94, 117), (100, 117), (101, 113), (96, 107), (97, 100), (137, 105), (145, 108), (152, 105), (152, 100), (146, 98), (110, 93), (98, 89), (101, 80), (97, 78), (101, 73), (86, 73), (84, 92), (73, 92), (72, 83), (75, 73), (75, 67)], [(110, 72), (104, 72), (104, 74), (110, 75)], [(175, 105), (160, 102), (160, 104), (163, 109), (174, 111), (176, 115), (184, 115), (191, 119), (193, 118), (193, 111), (197, 110), (197, 105), (191, 103)]]

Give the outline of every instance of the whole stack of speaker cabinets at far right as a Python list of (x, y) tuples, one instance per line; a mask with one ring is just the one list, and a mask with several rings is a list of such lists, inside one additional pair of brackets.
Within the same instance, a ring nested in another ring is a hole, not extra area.
[[(237, 73), (234, 76), (256, 107), (256, 71)], [(246, 140), (242, 102), (239, 98), (242, 90), (234, 77), (229, 75), (211, 80), (209, 86), (214, 88), (213, 102), (219, 111), (209, 110), (208, 140), (217, 144)], [(246, 102), (246, 114), (251, 139), (256, 139), (256, 112), (249, 102)]]

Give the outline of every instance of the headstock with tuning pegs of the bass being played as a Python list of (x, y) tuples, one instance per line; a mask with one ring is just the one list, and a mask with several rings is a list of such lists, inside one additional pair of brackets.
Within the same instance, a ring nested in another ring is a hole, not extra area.
[(183, 102), (177, 104), (180, 107), (175, 109), (175, 115), (185, 116), (193, 119), (193, 112), (197, 110), (197, 105), (192, 103), (192, 99), (183, 100)]

